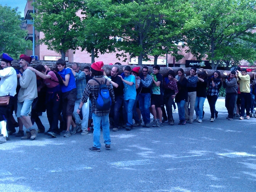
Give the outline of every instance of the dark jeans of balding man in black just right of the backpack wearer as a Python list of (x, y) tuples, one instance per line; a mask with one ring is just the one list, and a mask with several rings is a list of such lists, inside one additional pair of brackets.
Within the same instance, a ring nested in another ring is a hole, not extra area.
[(120, 126), (119, 119), (120, 119), (120, 114), (122, 116), (122, 112), (123, 112), (123, 110), (121, 110), (123, 106), (123, 100), (124, 100), (124, 96), (115, 97), (115, 104), (113, 104), (110, 109), (110, 116), (114, 120), (114, 127), (117, 127), (117, 128)]

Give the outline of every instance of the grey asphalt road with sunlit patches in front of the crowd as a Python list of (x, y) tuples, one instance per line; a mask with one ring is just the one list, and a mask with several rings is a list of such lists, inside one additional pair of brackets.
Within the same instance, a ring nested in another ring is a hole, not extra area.
[[(0, 144), (1, 192), (255, 192), (256, 118), (226, 120), (224, 99), (210, 122), (110, 132), (110, 150), (90, 152), (92, 133)], [(48, 127), (46, 114), (42, 122)]]

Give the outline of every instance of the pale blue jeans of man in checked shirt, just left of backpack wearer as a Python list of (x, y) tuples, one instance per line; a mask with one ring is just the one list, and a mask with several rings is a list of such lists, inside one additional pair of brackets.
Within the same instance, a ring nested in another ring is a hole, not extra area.
[(81, 120), (80, 116), (76, 113), (79, 105), (81, 102), (81, 98), (80, 99), (76, 99), (75, 101), (75, 106), (74, 106), (74, 112), (73, 112), (73, 117), (76, 120), (76, 124), (78, 126), (82, 126), (82, 130), (85, 131), (87, 130), (88, 127), (88, 116), (89, 116), (89, 98), (87, 100), (86, 103), (84, 103), (84, 105), (82, 106), (82, 115), (83, 115), (83, 119)]

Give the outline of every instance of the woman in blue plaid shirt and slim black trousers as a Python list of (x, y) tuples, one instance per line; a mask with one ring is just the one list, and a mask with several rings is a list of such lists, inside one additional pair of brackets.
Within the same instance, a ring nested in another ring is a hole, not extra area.
[(211, 111), (211, 122), (214, 122), (214, 115), (215, 115), (215, 104), (219, 96), (219, 90), (221, 84), (221, 76), (219, 71), (215, 71), (213, 76), (210, 78), (209, 81), (209, 88), (207, 91), (207, 100), (210, 106)]

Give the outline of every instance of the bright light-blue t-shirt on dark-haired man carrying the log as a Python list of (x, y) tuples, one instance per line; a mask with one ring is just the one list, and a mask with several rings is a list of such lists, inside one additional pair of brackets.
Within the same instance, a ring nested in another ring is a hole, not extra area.
[(132, 86), (124, 82), (124, 100), (125, 101), (129, 99), (135, 100), (136, 99), (135, 77), (133, 75), (129, 75), (128, 77), (124, 77), (124, 80), (133, 82)]

